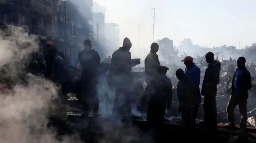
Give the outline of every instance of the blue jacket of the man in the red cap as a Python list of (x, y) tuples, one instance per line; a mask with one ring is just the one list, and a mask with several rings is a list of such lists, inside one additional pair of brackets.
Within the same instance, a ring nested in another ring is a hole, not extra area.
[(201, 103), (201, 93), (200, 93), (200, 77), (201, 70), (195, 64), (191, 69), (185, 68), (185, 74), (191, 78), (194, 82), (195, 90), (196, 90), (196, 99)]

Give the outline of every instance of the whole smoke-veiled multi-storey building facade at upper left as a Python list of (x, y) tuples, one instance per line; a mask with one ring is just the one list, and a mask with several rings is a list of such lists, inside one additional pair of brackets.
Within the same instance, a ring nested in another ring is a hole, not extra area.
[(71, 57), (83, 49), (84, 39), (97, 44), (92, 6), (92, 0), (0, 0), (0, 24), (26, 27), (37, 35), (40, 49), (31, 59), (45, 59), (47, 40)]

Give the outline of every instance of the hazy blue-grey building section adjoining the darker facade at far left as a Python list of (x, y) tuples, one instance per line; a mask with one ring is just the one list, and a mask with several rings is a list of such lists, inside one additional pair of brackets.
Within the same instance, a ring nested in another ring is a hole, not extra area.
[(84, 7), (88, 7), (86, 1), (80, 1), (79, 6), (78, 3), (58, 2), (58, 45), (59, 49), (69, 57), (78, 55), (78, 52), (83, 49), (83, 41), (90, 39), (89, 35), (93, 32), (90, 14), (87, 14), (89, 15), (87, 18), (83, 13), (83, 11), (88, 11), (84, 10)]

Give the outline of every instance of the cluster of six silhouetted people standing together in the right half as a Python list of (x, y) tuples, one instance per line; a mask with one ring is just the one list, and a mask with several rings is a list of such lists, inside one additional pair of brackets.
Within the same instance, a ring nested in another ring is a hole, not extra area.
[[(145, 59), (146, 82), (148, 83), (144, 100), (148, 101), (147, 120), (164, 121), (164, 113), (170, 109), (172, 100), (172, 82), (170, 80), (163, 80), (159, 78), (161, 69), (168, 70), (167, 67), (161, 66), (158, 60), (158, 44), (152, 43), (151, 51)], [(193, 63), (193, 58), (187, 56), (182, 60), (186, 66), (185, 70), (178, 69), (176, 77), (179, 79), (177, 84), (177, 96), (179, 101), (178, 110), (182, 114), (182, 119), (188, 127), (194, 127), (198, 108), (201, 101), (201, 96), (204, 96), (204, 126), (206, 131), (214, 133), (217, 130), (217, 107), (216, 94), (217, 85), (220, 82), (221, 65), (218, 60), (214, 60), (214, 53), (208, 52), (205, 56), (208, 63), (207, 69), (204, 73), (202, 82), (202, 89), (200, 91), (200, 68)], [(227, 106), (227, 114), (229, 124), (234, 127), (234, 109), (239, 106), (242, 115), (239, 133), (245, 133), (247, 121), (247, 99), (248, 90), (252, 87), (250, 72), (245, 67), (246, 59), (240, 57), (237, 60), (237, 69), (234, 73), (232, 82), (232, 90), (230, 93), (230, 100)], [(164, 75), (162, 74), (162, 75)], [(167, 78), (166, 78), (167, 79)], [(166, 82), (168, 81), (168, 82)], [(152, 86), (153, 85), (153, 86)], [(148, 99), (150, 98), (150, 99)], [(152, 114), (154, 113), (154, 114)]]

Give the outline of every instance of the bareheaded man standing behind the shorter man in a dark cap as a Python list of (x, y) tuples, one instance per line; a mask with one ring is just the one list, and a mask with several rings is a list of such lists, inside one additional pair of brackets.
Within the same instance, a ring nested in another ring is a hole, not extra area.
[(146, 82), (149, 82), (150, 79), (157, 74), (156, 68), (160, 66), (158, 55), (156, 54), (159, 49), (158, 43), (152, 43), (150, 49), (150, 53), (147, 55), (145, 59)]

